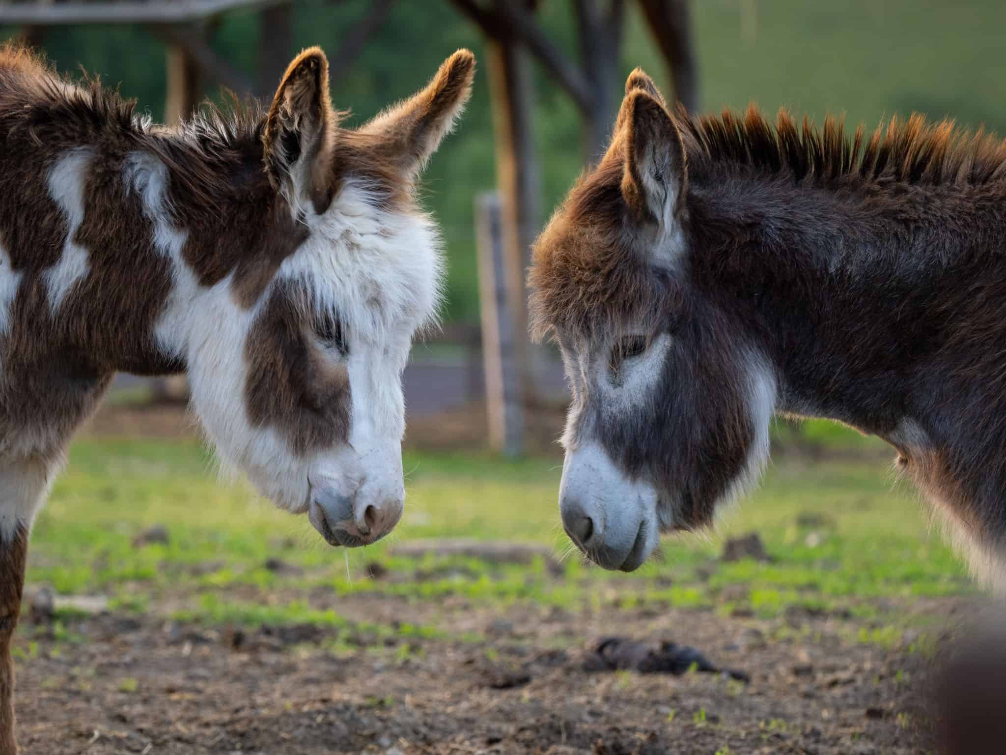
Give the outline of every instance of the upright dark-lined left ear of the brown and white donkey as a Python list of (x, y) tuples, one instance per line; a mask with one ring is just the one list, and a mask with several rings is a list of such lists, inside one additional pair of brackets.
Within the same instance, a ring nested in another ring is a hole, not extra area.
[(339, 123), (328, 92), (328, 58), (310, 47), (290, 63), (263, 132), (266, 171), (295, 206), (324, 212), (332, 201)]

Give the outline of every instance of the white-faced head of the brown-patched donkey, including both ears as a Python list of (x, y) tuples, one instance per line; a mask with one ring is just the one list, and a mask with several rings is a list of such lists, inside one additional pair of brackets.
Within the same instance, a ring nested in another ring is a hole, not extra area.
[(205, 332), (189, 339), (193, 403), (223, 460), (307, 511), (332, 545), (372, 543), (401, 515), (401, 372), (443, 277), (414, 185), (474, 66), (456, 52), (422, 92), (349, 130), (325, 55), (298, 56), (261, 128), (274, 217), (252, 240), (257, 262), (239, 263), (249, 270), (203, 307)]

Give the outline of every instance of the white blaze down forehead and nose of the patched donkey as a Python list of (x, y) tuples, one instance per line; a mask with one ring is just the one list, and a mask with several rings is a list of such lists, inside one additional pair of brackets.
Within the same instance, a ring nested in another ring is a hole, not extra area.
[(404, 495), (401, 372), (412, 335), (437, 314), (444, 268), (440, 234), (427, 215), (380, 212), (365, 187), (352, 182), (324, 214), (306, 209), (311, 236), (284, 261), (278, 278), (306, 286), (316, 306), (343, 323), (352, 396), (353, 453), (319, 454), (311, 479), (346, 494), (359, 474), (366, 478), (354, 489), (359, 496), (380, 501)]

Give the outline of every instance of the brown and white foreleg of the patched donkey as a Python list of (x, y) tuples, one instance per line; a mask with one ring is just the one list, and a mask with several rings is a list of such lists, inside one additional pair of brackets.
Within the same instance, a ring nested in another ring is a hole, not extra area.
[(16, 755), (14, 663), (10, 645), (21, 610), (28, 532), (48, 486), (38, 459), (0, 461), (0, 755)]

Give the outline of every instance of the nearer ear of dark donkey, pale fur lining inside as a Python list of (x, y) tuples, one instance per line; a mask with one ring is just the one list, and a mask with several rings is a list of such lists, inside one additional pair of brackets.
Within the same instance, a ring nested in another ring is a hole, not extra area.
[(684, 145), (664, 106), (633, 91), (619, 113), (625, 143), (622, 194), (638, 219), (674, 223), (688, 183)]

